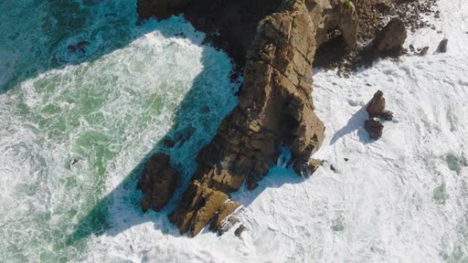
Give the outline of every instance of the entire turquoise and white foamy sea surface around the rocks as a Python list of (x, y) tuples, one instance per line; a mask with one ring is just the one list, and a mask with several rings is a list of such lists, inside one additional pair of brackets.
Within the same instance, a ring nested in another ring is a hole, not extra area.
[[(181, 16), (137, 26), (134, 0), (1, 1), (0, 262), (467, 263), (468, 5), (438, 3), (437, 29), (405, 43), (428, 55), (314, 72), (327, 128), (312, 178), (278, 161), (233, 194), (240, 238), (187, 238), (167, 219), (183, 186), (144, 214), (135, 184), (156, 151), (189, 180), (237, 103), (229, 57)], [(377, 89), (395, 120), (372, 141)]]

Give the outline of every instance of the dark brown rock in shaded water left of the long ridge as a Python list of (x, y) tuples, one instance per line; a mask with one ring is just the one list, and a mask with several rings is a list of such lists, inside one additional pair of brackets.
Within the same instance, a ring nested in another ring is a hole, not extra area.
[(142, 177), (137, 188), (143, 192), (140, 202), (142, 210), (161, 210), (169, 202), (179, 180), (179, 171), (169, 164), (169, 156), (163, 153), (153, 154), (144, 165)]

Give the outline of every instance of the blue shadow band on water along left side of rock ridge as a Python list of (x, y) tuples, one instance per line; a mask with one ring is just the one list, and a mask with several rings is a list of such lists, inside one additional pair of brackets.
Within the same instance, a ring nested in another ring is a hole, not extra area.
[[(185, 23), (185, 20), (182, 16), (173, 16), (157, 23), (151, 19), (140, 27), (144, 27), (141, 29), (144, 32), (158, 31), (166, 38), (188, 38), (193, 44), (202, 45), (203, 38), (199, 38), (199, 35), (194, 36), (191, 33), (185, 34), (185, 32), (174, 30), (179, 27), (171, 27), (170, 23)], [(213, 49), (213, 47), (208, 49)], [(222, 87), (211, 85), (209, 81), (215, 75), (213, 70), (218, 65), (216, 61), (213, 61), (213, 56), (207, 53), (206, 46), (203, 47), (200, 62), (203, 70), (196, 76), (192, 87), (179, 104), (168, 133), (161, 137), (153, 149), (142, 158), (138, 165), (135, 165), (115, 189), (101, 198), (84, 217), (79, 219), (73, 227), (73, 232), (66, 237), (64, 245), (78, 245), (90, 235), (116, 236), (134, 225), (148, 221), (153, 222), (155, 228), (161, 229), (164, 233), (178, 235), (177, 228), (168, 221), (167, 215), (177, 206), (190, 176), (194, 173), (193, 163), (195, 163), (196, 154), (211, 141), (224, 115), (237, 104), (234, 94), (239, 87), (239, 79), (231, 79), (232, 85), (226, 85), (231, 90), (220, 92), (219, 89)], [(228, 73), (231, 74), (231, 72)], [(229, 74), (225, 77), (217, 77), (229, 81)], [(217, 98), (226, 93), (231, 94), (232, 105), (222, 105), (224, 100)], [(170, 141), (172, 143), (168, 143)], [(150, 210), (143, 213), (140, 207), (142, 193), (136, 189), (136, 184), (146, 161), (155, 152), (164, 152), (171, 156), (171, 165), (181, 171), (181, 182), (170, 203), (161, 212)]]

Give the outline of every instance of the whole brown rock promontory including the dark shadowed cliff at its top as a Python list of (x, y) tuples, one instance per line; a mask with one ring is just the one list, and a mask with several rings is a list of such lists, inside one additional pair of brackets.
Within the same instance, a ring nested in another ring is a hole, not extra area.
[[(191, 236), (210, 221), (211, 229), (219, 230), (239, 207), (229, 193), (244, 182), (254, 189), (276, 162), (281, 146), (291, 148), (298, 174), (311, 174), (309, 158), (320, 148), (325, 129), (311, 98), (315, 49), (327, 40), (330, 29), (339, 29), (352, 46), (357, 28), (354, 5), (347, 0), (193, 2), (138, 1), (144, 17), (184, 12), (198, 29), (220, 32), (217, 41), (244, 68), (239, 105), (198, 154), (198, 169), (170, 214), (180, 232), (190, 231)], [(243, 9), (250, 11), (244, 14)], [(213, 21), (218, 16), (220, 21)], [(244, 28), (237, 31), (238, 27)], [(244, 59), (239, 58), (242, 52)]]

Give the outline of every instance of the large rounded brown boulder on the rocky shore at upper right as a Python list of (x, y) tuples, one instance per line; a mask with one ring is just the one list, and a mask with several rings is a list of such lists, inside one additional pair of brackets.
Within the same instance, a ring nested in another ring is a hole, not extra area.
[(398, 54), (406, 40), (406, 27), (399, 18), (393, 18), (380, 30), (372, 41), (376, 53), (381, 55)]

